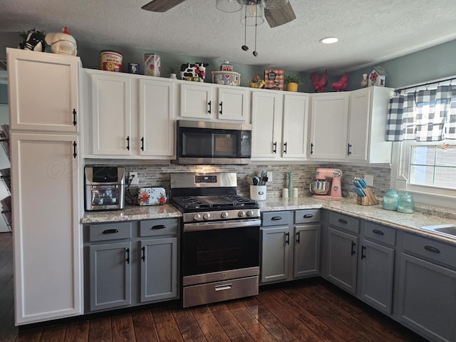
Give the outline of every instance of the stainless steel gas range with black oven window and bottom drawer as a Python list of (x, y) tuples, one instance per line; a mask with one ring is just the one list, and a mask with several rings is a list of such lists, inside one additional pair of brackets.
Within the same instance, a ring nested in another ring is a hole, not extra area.
[(237, 175), (171, 174), (170, 203), (183, 215), (183, 306), (257, 295), (259, 204), (237, 195)]

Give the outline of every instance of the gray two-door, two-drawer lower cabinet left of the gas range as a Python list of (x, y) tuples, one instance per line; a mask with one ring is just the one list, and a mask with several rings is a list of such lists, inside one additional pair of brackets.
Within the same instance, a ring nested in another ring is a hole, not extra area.
[(178, 219), (84, 227), (86, 312), (177, 299)]

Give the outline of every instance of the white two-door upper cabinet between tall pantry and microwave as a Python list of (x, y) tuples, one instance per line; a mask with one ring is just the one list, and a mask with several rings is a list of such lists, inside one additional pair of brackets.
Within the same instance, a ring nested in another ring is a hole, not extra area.
[(175, 158), (175, 82), (84, 69), (86, 157)]

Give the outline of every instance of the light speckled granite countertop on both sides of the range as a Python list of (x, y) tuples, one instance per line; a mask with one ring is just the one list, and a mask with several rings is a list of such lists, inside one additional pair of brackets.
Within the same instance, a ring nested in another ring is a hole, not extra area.
[[(299, 209), (330, 209), (333, 212), (347, 214), (366, 221), (384, 224), (389, 227), (401, 229), (406, 232), (432, 237), (442, 242), (456, 245), (456, 237), (445, 234), (430, 232), (420, 229), (423, 226), (434, 224), (452, 224), (456, 226), (454, 211), (442, 211), (438, 214), (423, 214), (414, 212), (413, 214), (403, 214), (391, 210), (383, 209), (381, 204), (359, 205), (356, 204), (356, 197), (344, 198), (340, 201), (314, 199), (312, 197), (299, 198), (273, 198), (265, 201), (258, 201), (261, 212), (272, 212), (282, 210)], [(182, 213), (171, 204), (152, 205), (152, 206), (127, 206), (125, 209), (85, 212), (81, 219), (82, 224), (137, 221), (142, 219), (163, 219), (172, 217), (182, 217)]]

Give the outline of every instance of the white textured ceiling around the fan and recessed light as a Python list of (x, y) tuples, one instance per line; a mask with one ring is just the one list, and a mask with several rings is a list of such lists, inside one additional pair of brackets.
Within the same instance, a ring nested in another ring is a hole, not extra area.
[[(240, 12), (218, 11), (215, 0), (187, 0), (154, 13), (141, 9), (148, 1), (2, 0), (0, 32), (68, 26), (76, 41), (333, 74), (456, 39), (455, 0), (290, 0), (296, 20), (258, 26), (254, 57), (253, 27), (247, 28), (249, 51), (241, 49)], [(326, 36), (340, 41), (318, 42)]]

